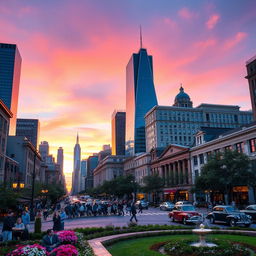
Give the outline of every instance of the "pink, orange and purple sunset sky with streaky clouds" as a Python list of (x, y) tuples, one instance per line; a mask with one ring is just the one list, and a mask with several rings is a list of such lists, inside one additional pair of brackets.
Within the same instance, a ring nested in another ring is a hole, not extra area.
[(51, 154), (64, 148), (70, 186), (77, 132), (82, 158), (111, 143), (140, 25), (159, 105), (172, 105), (182, 83), (194, 106), (251, 109), (255, 10), (255, 0), (0, 0), (0, 41), (22, 56), (18, 117), (40, 120)]

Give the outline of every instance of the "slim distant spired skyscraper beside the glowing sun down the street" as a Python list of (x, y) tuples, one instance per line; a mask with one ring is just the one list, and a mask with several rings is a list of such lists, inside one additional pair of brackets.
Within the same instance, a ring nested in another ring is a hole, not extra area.
[(74, 147), (74, 169), (72, 173), (72, 194), (80, 192), (80, 170), (81, 169), (81, 148), (79, 145), (79, 137), (77, 134), (76, 145)]

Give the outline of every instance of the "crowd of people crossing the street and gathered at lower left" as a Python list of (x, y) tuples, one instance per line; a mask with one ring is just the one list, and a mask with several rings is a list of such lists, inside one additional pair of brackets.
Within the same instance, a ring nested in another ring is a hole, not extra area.
[[(141, 204), (138, 205), (139, 212), (142, 213)], [(137, 222), (137, 210), (132, 201), (88, 201), (88, 202), (59, 202), (52, 206), (42, 206), (38, 203), (32, 209), (36, 218), (53, 221), (52, 230), (54, 232), (64, 230), (65, 219), (72, 219), (84, 216), (124, 216), (129, 214), (130, 221)], [(2, 235), (0, 241), (27, 240), (29, 238), (31, 212), (28, 207), (19, 207), (15, 212), (9, 210), (3, 220)]]

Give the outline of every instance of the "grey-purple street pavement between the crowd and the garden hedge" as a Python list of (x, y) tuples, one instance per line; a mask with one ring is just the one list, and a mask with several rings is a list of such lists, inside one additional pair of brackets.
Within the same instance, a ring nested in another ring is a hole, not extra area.
[[(200, 209), (199, 212), (203, 213), (206, 216), (207, 211), (205, 209)], [(80, 217), (74, 219), (65, 220), (65, 229), (74, 229), (74, 228), (84, 228), (84, 227), (104, 227), (108, 225), (114, 226), (127, 226), (130, 216), (125, 214), (125, 216), (92, 216), (92, 217)], [(148, 210), (143, 210), (143, 213), (137, 214), (138, 225), (148, 225), (148, 224), (159, 224), (159, 225), (183, 225), (177, 222), (171, 222), (168, 218), (168, 211), (160, 211), (159, 208), (149, 208)], [(214, 224), (211, 225), (208, 220), (206, 223), (209, 226), (216, 226), (221, 228), (227, 228), (227, 225)], [(0, 224), (0, 228), (2, 223)], [(47, 221), (43, 221), (42, 230), (46, 231), (53, 227), (53, 222), (49, 218)], [(256, 228), (256, 224), (251, 225), (252, 228)], [(34, 231), (34, 224), (30, 225), (30, 231)]]

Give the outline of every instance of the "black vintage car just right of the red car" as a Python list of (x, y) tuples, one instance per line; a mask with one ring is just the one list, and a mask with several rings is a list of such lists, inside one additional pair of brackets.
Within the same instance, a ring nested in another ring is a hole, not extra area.
[(240, 212), (230, 205), (217, 205), (213, 207), (212, 212), (210, 212), (206, 218), (210, 220), (211, 224), (224, 222), (231, 227), (237, 225), (249, 227), (252, 222), (250, 215)]

